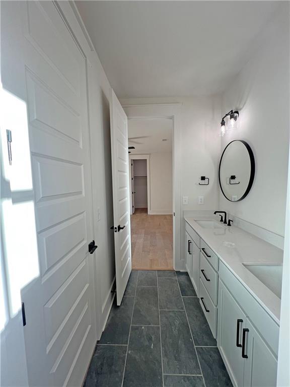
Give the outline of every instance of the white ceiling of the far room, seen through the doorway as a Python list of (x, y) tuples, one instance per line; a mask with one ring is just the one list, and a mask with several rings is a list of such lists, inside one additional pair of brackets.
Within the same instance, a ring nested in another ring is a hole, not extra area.
[[(130, 149), (130, 155), (172, 152), (172, 120), (169, 118), (129, 119), (128, 137), (129, 146), (135, 147)], [(133, 139), (130, 141), (130, 138)], [(162, 141), (164, 139), (167, 141)]]

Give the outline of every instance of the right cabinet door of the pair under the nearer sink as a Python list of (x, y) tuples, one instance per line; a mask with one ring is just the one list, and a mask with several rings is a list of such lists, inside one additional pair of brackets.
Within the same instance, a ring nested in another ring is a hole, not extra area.
[(247, 318), (244, 362), (245, 387), (273, 387), (276, 385), (277, 360)]

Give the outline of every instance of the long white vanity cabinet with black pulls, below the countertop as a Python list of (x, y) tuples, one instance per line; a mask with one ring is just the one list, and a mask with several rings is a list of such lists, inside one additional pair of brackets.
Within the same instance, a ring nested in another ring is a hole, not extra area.
[(232, 263), (221, 252), (215, 253), (221, 251), (223, 240), (216, 238), (215, 242), (208, 231), (192, 223), (185, 223), (186, 270), (233, 385), (275, 387), (278, 321), (236, 274), (240, 262)]

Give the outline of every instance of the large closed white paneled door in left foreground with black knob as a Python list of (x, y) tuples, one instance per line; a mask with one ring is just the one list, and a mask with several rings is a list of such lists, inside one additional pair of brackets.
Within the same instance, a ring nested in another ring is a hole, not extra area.
[(21, 291), (28, 380), (80, 386), (96, 343), (86, 59), (53, 2), (5, 3), (16, 4), (5, 5), (2, 81), (26, 104), (33, 181), (17, 198), (32, 198), (35, 226), (22, 232), (38, 251), (36, 270), (18, 246), (22, 274), (34, 273)]

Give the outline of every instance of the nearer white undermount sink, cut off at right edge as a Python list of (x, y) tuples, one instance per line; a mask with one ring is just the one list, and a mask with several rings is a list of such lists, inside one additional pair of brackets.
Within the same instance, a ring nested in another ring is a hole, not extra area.
[(281, 299), (282, 265), (243, 265)]

